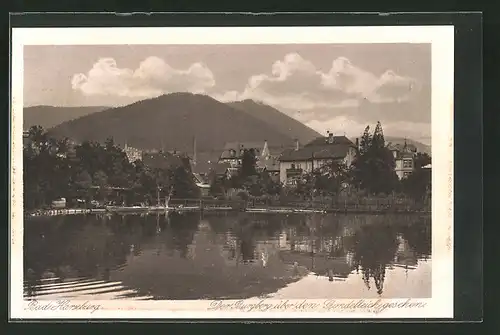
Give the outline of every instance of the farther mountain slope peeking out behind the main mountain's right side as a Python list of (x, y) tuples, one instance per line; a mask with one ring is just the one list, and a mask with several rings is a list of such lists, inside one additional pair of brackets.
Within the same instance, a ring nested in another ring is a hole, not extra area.
[(274, 127), (278, 132), (288, 136), (296, 137), (300, 143), (308, 143), (321, 136), (315, 130), (307, 127), (303, 123), (283, 114), (279, 110), (253, 100), (247, 99), (227, 103), (227, 105), (241, 110), (249, 115), (264, 121)]

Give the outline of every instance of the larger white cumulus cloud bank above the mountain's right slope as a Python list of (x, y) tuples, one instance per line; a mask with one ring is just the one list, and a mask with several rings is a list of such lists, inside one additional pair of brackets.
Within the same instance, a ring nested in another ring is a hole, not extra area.
[(242, 92), (216, 95), (221, 101), (256, 99), (283, 108), (313, 109), (344, 107), (359, 101), (401, 102), (419, 90), (413, 78), (388, 70), (380, 76), (363, 70), (345, 57), (333, 60), (323, 72), (297, 53), (276, 61), (270, 74), (249, 78)]

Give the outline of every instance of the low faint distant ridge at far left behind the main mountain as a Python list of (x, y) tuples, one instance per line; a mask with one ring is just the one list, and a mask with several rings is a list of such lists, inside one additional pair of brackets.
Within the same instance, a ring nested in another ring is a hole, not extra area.
[(23, 129), (31, 126), (42, 126), (45, 129), (52, 128), (66, 121), (100, 112), (108, 107), (54, 107), (33, 106), (23, 109)]

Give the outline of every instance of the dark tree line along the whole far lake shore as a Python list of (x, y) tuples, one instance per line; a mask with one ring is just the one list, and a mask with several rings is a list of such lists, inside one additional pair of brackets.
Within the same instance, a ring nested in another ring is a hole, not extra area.
[[(112, 138), (104, 144), (85, 141), (70, 150), (69, 139), (53, 138), (42, 127), (33, 126), (23, 156), (26, 209), (42, 208), (61, 197), (85, 203), (114, 200), (128, 204), (156, 204), (168, 196), (200, 197), (187, 156), (180, 157), (180, 164), (154, 168), (141, 160), (129, 162)], [(228, 190), (236, 189), (241, 190), (240, 198), (291, 195), (307, 199), (315, 195), (338, 198), (355, 192), (357, 196), (404, 194), (425, 201), (431, 176), (422, 167), (430, 162), (429, 155), (416, 153), (413, 173), (399, 180), (394, 156), (378, 122), (373, 133), (366, 127), (351, 166), (331, 161), (302, 174), (296, 185), (287, 187), (267, 171), (259, 170), (255, 151), (245, 149), (237, 173), (210, 175), (210, 194), (225, 196)]]

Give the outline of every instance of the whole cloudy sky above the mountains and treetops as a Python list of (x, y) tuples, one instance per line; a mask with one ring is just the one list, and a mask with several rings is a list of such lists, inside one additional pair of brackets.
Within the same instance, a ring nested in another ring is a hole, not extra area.
[(171, 92), (269, 104), (316, 131), (430, 144), (430, 44), (24, 47), (24, 106), (121, 106)]

